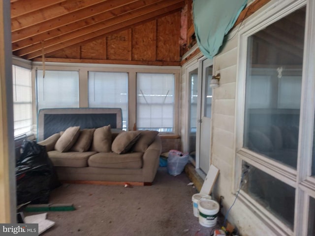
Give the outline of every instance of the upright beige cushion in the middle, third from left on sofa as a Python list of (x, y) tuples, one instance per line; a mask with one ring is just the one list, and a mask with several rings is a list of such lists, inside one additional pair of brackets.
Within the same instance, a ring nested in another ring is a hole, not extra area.
[(112, 146), (112, 132), (110, 125), (95, 129), (91, 150), (97, 152), (110, 152)]

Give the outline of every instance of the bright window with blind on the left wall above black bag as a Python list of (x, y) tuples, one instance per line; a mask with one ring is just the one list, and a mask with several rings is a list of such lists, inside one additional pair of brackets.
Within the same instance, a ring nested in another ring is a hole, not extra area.
[(12, 66), (14, 137), (32, 133), (31, 70)]

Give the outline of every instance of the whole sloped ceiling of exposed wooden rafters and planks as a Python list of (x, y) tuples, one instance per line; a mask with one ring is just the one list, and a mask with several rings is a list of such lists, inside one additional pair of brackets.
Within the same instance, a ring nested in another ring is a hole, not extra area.
[(11, 0), (12, 51), (34, 59), (181, 11), (185, 0)]

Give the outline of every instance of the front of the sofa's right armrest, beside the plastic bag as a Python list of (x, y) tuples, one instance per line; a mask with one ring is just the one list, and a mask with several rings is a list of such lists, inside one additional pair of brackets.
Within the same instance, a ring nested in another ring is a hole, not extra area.
[(157, 174), (159, 155), (162, 152), (161, 138), (157, 135), (153, 143), (143, 153), (143, 181), (152, 182)]

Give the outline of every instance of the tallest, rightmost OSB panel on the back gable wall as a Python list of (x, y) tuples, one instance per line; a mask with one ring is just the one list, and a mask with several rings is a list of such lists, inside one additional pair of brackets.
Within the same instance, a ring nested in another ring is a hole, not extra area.
[(157, 60), (179, 61), (181, 13), (158, 19), (157, 25)]

